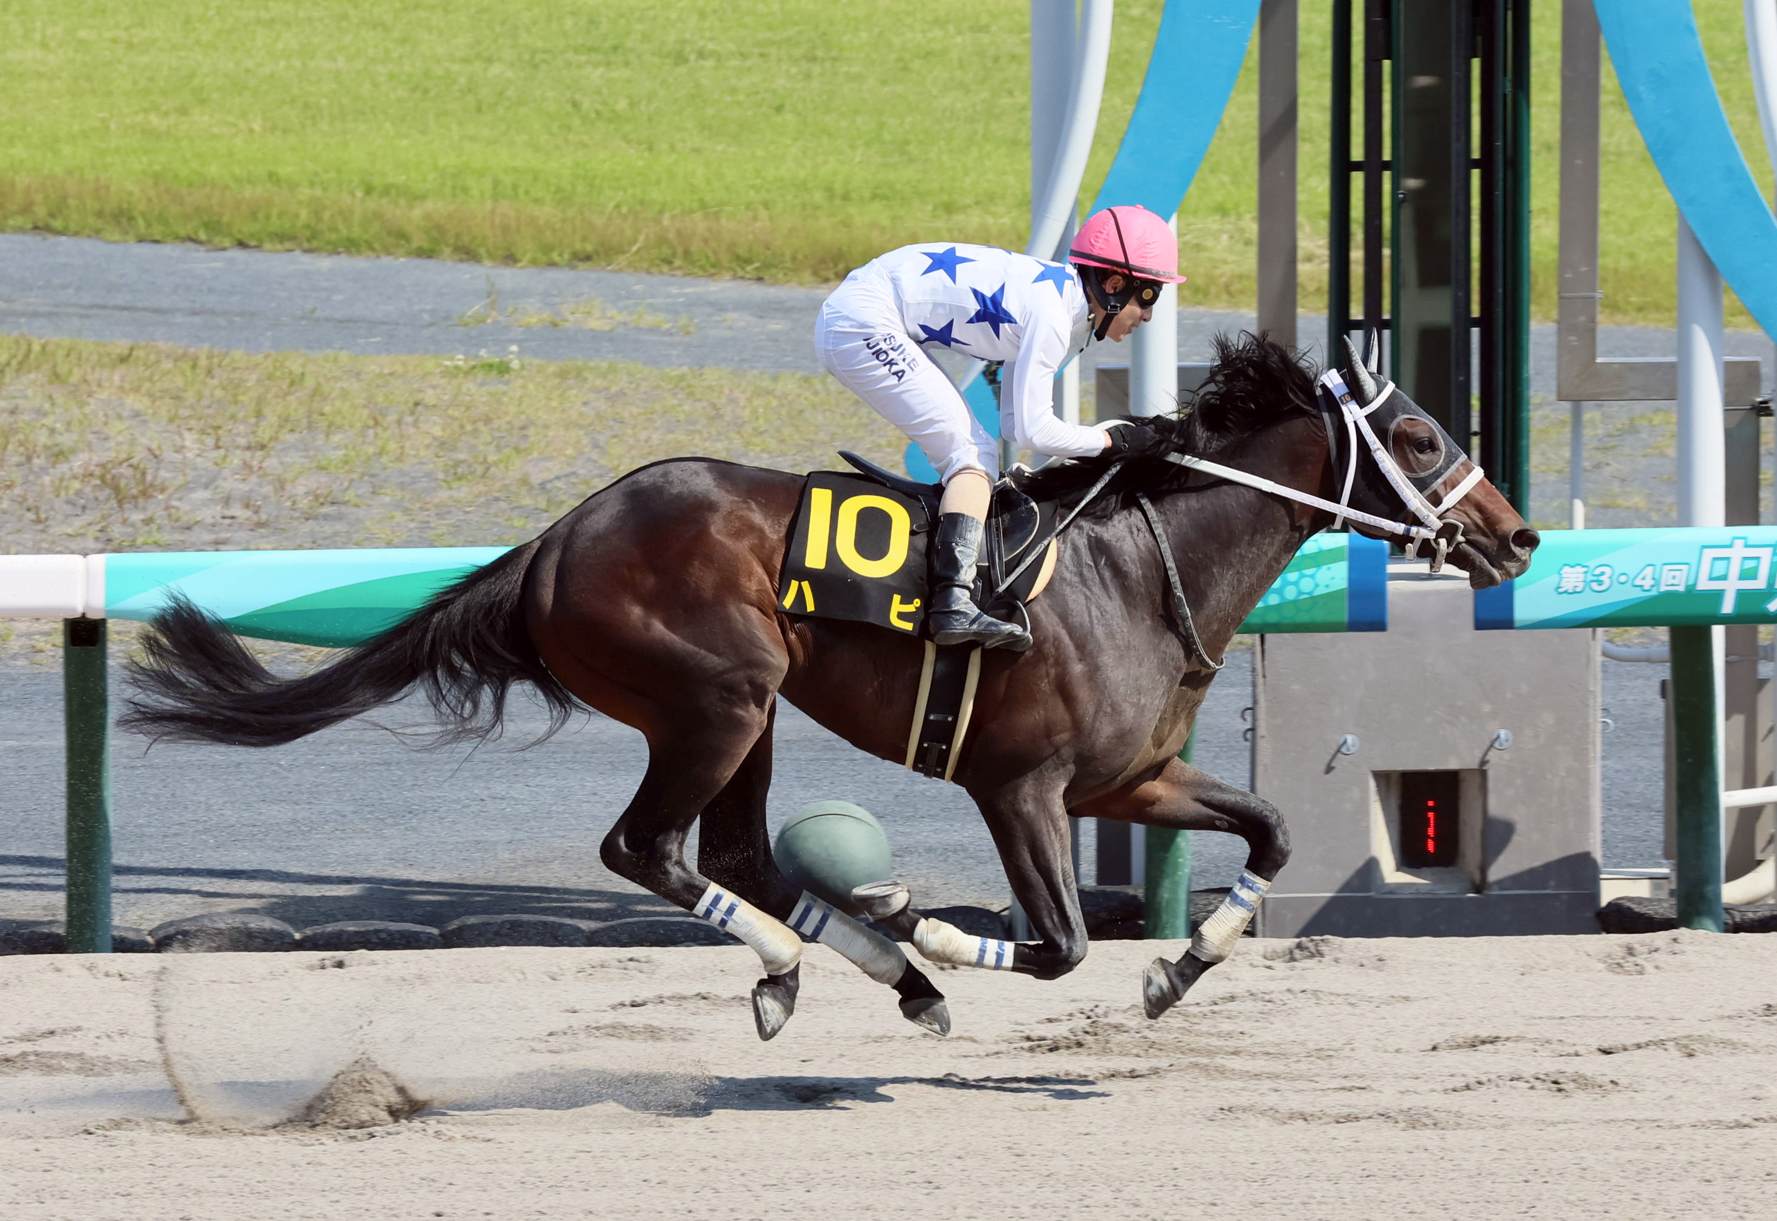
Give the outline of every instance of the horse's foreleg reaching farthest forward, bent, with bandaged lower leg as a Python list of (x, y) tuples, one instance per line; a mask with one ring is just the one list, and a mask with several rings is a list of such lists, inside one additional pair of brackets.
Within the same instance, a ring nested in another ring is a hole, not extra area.
[(1095, 798), (1075, 814), (1169, 830), (1228, 832), (1247, 844), (1246, 869), (1221, 906), (1198, 928), (1191, 949), (1178, 962), (1155, 958), (1143, 972), (1143, 1008), (1148, 1017), (1157, 1018), (1205, 970), (1233, 953), (1265, 890), (1290, 860), (1290, 832), (1271, 802), (1176, 759), (1153, 780)]

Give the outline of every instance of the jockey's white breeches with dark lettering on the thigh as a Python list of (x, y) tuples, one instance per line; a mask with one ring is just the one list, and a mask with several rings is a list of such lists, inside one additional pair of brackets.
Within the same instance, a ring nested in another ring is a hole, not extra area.
[(951, 379), (906, 334), (894, 291), (853, 275), (814, 320), (821, 368), (904, 432), (949, 482), (965, 467), (999, 478), (999, 444)]

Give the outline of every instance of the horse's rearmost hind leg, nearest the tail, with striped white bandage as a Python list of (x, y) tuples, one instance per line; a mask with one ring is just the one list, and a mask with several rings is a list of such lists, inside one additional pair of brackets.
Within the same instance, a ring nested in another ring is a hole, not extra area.
[[(677, 903), (752, 946), (766, 978), (753, 986), (759, 1038), (771, 1038), (796, 1011), (801, 940), (780, 921), (695, 873), (684, 839), (697, 816), (741, 771), (768, 725), (768, 711), (666, 725), (649, 738), (649, 770), (599, 848), (606, 867)], [(769, 746), (764, 752), (769, 768)]]

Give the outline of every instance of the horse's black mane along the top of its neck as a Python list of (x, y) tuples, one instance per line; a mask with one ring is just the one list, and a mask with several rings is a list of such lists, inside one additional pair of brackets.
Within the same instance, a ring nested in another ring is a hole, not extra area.
[[(1215, 364), (1203, 386), (1178, 403), (1175, 414), (1153, 418), (1169, 450), (1208, 457), (1265, 425), (1315, 411), (1313, 363), (1272, 339), (1267, 332), (1242, 331), (1237, 338), (1215, 336)], [(1109, 459), (1052, 462), (1020, 482), (1036, 499), (1070, 499), (1104, 475)], [(1084, 510), (1105, 517), (1134, 505), (1136, 492), (1164, 496), (1185, 485), (1191, 471), (1150, 455), (1125, 462), (1111, 483)]]

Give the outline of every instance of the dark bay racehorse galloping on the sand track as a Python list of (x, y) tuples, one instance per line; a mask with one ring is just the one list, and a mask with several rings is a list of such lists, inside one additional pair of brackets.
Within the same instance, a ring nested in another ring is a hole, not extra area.
[[(1381, 444), (1400, 471), (1427, 482), (1443, 473), (1429, 496), (1473, 471), (1411, 400), (1379, 386), (1356, 357), (1345, 379), (1359, 405), (1386, 407), (1370, 418), (1391, 421)], [(1155, 427), (1180, 453), (1338, 499), (1356, 446), (1324, 407), (1299, 357), (1242, 336), (1217, 343), (1207, 387)], [(1372, 455), (1363, 459), (1349, 503), (1402, 517), (1400, 492)], [(1104, 460), (1056, 464), (1025, 487), (1079, 498), (1104, 469)], [(801, 485), (796, 475), (711, 459), (641, 467), (400, 626), (299, 679), (274, 677), (217, 620), (176, 604), (146, 638), (147, 659), (135, 675), (142, 697), (124, 722), (151, 736), (272, 746), (418, 688), (444, 725), (441, 739), (464, 741), (496, 732), (510, 688), (530, 682), (554, 727), (590, 706), (647, 736), (647, 775), (604, 839), (604, 864), (761, 953), (766, 978), (753, 1011), (762, 1038), (794, 1010), (801, 940), (791, 928), (894, 986), (908, 1018), (944, 1033), (944, 999), (901, 947), (800, 894), (771, 860), (766, 789), (777, 698), (901, 761), (922, 658), (919, 640), (778, 606)], [(1187, 645), (1171, 610), (1137, 492), (1178, 560), (1201, 649)], [(1491, 483), (1473, 485), (1448, 519), (1462, 526), (1450, 562), (1475, 588), (1528, 565), (1537, 535)], [(1118, 469), (1061, 537), (1054, 579), (1031, 604), (1036, 645), (983, 654), (954, 773), (979, 805), (1040, 940), (967, 937), (920, 917), (894, 885), (862, 896), (865, 910), (926, 958), (1050, 979), (1086, 956), (1070, 816), (1240, 835), (1249, 846), (1240, 885), (1182, 958), (1157, 960), (1144, 976), (1150, 1017), (1176, 1002), (1226, 956), (1290, 855), (1274, 807), (1176, 755), (1214, 677), (1210, 659), (1223, 656), (1303, 540), (1331, 521), (1320, 508), (1164, 457)], [(698, 819), (693, 869), (682, 848)]]

